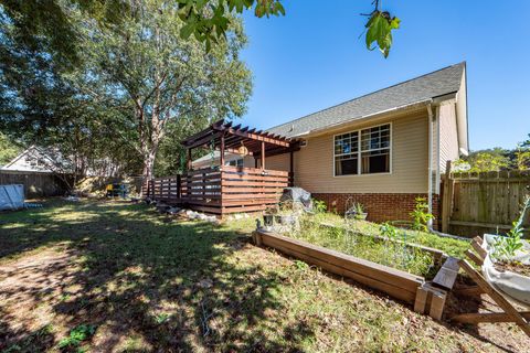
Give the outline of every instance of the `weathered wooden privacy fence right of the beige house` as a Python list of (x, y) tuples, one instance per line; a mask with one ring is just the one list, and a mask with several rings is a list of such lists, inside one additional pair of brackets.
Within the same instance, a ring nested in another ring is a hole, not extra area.
[[(530, 170), (499, 172), (451, 172), (447, 164), (442, 185), (442, 231), (473, 237), (506, 232), (530, 194)], [(530, 228), (530, 214), (523, 227)]]

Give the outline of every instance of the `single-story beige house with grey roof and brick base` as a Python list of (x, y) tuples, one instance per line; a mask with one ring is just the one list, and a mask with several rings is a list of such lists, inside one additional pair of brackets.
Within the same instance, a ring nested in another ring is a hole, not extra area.
[[(402, 82), (267, 129), (299, 141), (290, 153), (266, 156), (267, 170), (289, 171), (294, 185), (343, 212), (349, 197), (369, 220), (409, 220), (415, 197), (438, 213), (441, 174), (467, 154), (466, 64)], [(191, 146), (191, 145), (190, 145)], [(219, 152), (213, 156), (219, 163)], [(231, 151), (224, 164), (259, 165), (258, 154)], [(194, 161), (210, 167), (212, 156)]]

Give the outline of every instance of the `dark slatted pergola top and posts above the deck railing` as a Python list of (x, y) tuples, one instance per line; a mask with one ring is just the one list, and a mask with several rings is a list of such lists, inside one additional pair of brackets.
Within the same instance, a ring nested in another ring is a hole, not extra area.
[(220, 151), (220, 165), (224, 165), (224, 153), (248, 154), (261, 160), (261, 169), (265, 170), (266, 157), (290, 153), (293, 172), (293, 152), (299, 150), (299, 141), (266, 131), (233, 125), (224, 119), (215, 121), (209, 128), (181, 142), (188, 150), (188, 170), (191, 170), (191, 151), (195, 148), (209, 148)]

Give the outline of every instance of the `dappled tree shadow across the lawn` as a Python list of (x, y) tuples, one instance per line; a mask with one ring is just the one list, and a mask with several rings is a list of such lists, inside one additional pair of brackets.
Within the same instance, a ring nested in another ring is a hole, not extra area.
[[(275, 297), (282, 278), (240, 258), (247, 242), (226, 227), (163, 223), (144, 205), (59, 203), (0, 221), (0, 261), (44, 245), (67, 254), (40, 267), (36, 287), (0, 296), (45, 301), (70, 329), (94, 324), (92, 343), (102, 351), (123, 346), (119, 338), (128, 335), (129, 352), (299, 351), (314, 333), (304, 322), (280, 332), (267, 327), (268, 313), (283, 309)], [(50, 328), (13, 328), (0, 314), (0, 351), (56, 344)]]

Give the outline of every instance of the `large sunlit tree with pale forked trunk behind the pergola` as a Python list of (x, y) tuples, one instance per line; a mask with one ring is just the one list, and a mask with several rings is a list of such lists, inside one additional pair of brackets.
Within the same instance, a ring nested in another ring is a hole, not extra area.
[(73, 15), (82, 23), (80, 49), (88, 67), (80, 90), (129, 109), (145, 176), (153, 175), (168, 122), (204, 125), (245, 111), (252, 85), (239, 58), (246, 43), (241, 21), (231, 21), (226, 41), (206, 53), (179, 36), (183, 22), (174, 1), (138, 2), (117, 24), (86, 20), (75, 9)]

